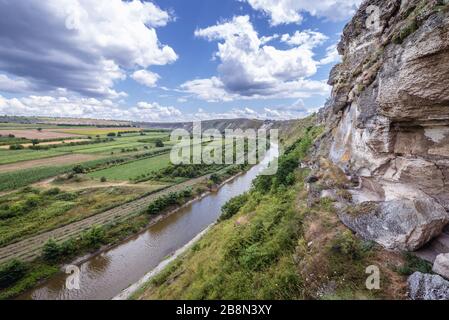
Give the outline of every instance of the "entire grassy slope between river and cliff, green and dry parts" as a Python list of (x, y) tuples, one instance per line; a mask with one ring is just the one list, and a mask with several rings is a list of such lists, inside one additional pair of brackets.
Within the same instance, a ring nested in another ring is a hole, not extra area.
[[(300, 123), (310, 128), (311, 121)], [(291, 132), (301, 138), (294, 158), (306, 156), (313, 137), (304, 126)], [(356, 238), (327, 199), (308, 208), (308, 170), (294, 174), (291, 186), (274, 186), (269, 193), (253, 188), (236, 216), (214, 226), (134, 298), (403, 298), (405, 278), (394, 271), (401, 257)], [(373, 264), (382, 272), (379, 291), (365, 287), (365, 269)]]

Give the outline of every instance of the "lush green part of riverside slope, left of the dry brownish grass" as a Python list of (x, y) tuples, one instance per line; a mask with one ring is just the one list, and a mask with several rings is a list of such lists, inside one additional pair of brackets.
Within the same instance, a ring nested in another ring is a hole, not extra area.
[[(182, 260), (143, 290), (149, 299), (293, 299), (301, 279), (293, 261), (301, 215), (297, 190), (252, 194), (235, 218), (215, 226)], [(249, 223), (236, 225), (238, 218)]]

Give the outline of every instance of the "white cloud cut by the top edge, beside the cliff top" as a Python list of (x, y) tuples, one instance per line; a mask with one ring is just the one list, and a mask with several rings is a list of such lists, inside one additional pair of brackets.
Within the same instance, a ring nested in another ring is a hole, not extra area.
[(340, 21), (351, 17), (363, 0), (240, 0), (270, 17), (273, 26), (301, 23), (303, 14)]

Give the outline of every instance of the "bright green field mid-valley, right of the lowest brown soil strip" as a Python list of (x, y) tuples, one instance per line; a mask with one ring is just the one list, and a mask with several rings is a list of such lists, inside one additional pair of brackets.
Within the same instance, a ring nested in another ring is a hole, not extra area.
[(108, 180), (128, 181), (149, 174), (170, 165), (170, 154), (163, 154), (153, 158), (129, 162), (123, 165), (90, 173), (93, 178), (105, 177)]

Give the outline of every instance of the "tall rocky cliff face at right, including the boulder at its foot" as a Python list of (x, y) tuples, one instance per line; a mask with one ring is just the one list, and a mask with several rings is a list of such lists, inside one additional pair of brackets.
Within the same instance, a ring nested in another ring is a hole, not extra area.
[(416, 250), (449, 223), (448, 1), (367, 0), (339, 51), (316, 155), (348, 176), (340, 218)]

